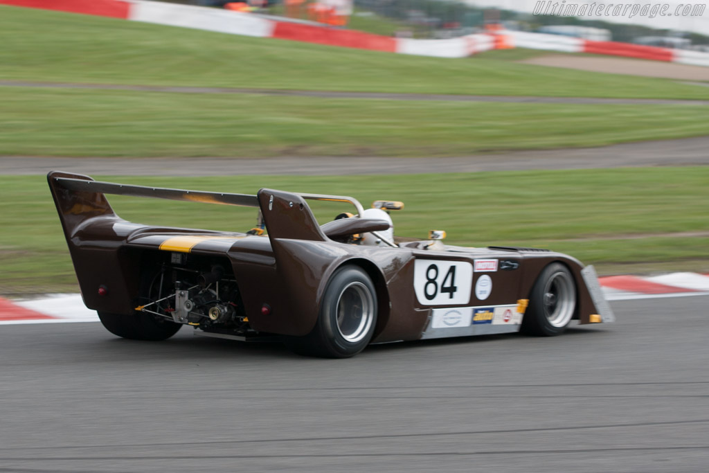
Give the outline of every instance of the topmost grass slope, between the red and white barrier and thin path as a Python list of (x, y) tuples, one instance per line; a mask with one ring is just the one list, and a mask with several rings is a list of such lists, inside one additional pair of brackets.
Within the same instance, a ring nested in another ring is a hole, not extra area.
[(0, 79), (435, 94), (708, 99), (706, 87), (246, 38), (0, 6)]

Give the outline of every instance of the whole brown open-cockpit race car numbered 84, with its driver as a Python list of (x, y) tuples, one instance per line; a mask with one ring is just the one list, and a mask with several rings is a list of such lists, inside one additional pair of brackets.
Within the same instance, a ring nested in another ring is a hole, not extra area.
[[(48, 182), (84, 303), (115, 335), (164, 340), (278, 335), (297, 352), (350, 357), (369, 343), (522, 331), (558, 335), (571, 320), (613, 321), (593, 267), (549, 250), (445, 245), (393, 236), (389, 210), (346, 196), (257, 195), (97, 182)], [(106, 194), (254, 207), (246, 233), (165, 228), (118, 217)], [(347, 202), (318, 225), (307, 201)]]

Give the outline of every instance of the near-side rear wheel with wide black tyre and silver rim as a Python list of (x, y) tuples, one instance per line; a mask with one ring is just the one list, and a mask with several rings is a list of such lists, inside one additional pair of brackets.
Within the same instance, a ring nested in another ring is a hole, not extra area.
[(301, 355), (347, 358), (364, 350), (376, 326), (377, 301), (372, 279), (357, 266), (337, 269), (320, 301), (315, 328), (291, 340)]

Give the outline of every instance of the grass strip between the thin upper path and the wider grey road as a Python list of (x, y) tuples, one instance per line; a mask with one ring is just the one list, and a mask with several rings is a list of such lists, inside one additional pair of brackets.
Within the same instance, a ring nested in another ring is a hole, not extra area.
[(0, 87), (0, 155), (470, 155), (705, 135), (706, 113)]

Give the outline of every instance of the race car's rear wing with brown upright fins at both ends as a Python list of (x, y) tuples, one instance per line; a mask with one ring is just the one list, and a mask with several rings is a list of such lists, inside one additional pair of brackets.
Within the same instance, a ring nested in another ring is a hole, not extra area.
[(118, 218), (108, 204), (106, 194), (259, 208), (272, 240), (327, 240), (311, 208), (306, 204), (306, 199), (345, 202), (352, 204), (358, 215), (363, 212), (362, 204), (348, 196), (296, 194), (274, 189), (260, 189), (253, 195), (134, 186), (95, 181), (82, 174), (59, 171), (50, 172), (47, 180), (67, 239), (72, 238), (75, 230), (90, 218)]

